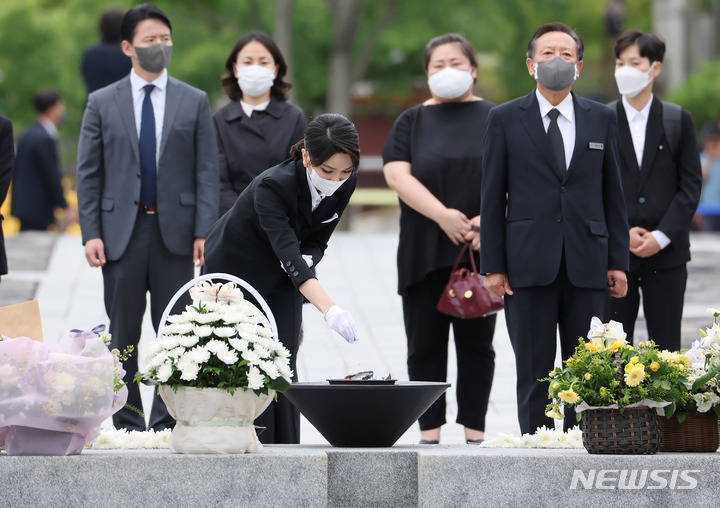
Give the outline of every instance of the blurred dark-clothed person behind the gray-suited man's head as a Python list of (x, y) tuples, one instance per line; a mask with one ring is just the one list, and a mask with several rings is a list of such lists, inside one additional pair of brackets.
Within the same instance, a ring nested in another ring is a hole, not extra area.
[(132, 69), (130, 58), (120, 46), (120, 24), (124, 15), (121, 9), (115, 8), (103, 12), (98, 22), (100, 44), (83, 53), (82, 73), (88, 95), (124, 78)]

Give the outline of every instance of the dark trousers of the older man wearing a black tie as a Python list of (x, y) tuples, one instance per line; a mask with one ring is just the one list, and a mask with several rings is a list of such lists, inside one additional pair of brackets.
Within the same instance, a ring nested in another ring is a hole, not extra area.
[[(518, 422), (526, 434), (555, 425), (545, 416), (548, 384), (538, 379), (555, 367), (558, 328), (564, 361), (572, 356), (578, 339), (587, 336), (592, 317), (603, 315), (607, 290), (574, 286), (564, 262), (551, 284), (512, 289), (514, 294), (505, 296), (505, 318), (515, 353)], [(574, 425), (575, 412), (565, 407), (565, 430)]]

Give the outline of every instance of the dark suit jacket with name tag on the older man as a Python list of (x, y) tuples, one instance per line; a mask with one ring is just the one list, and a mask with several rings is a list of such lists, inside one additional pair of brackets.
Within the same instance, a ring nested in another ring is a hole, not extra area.
[(628, 227), (610, 108), (573, 94), (575, 147), (558, 167), (535, 90), (490, 111), (483, 153), (482, 271), (511, 287), (555, 280), (563, 251), (570, 282), (607, 288), (628, 268)]

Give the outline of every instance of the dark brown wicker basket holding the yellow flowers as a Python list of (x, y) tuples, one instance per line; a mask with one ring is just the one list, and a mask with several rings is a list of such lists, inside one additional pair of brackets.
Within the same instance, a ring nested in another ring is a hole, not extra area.
[(648, 407), (586, 409), (583, 446), (589, 453), (648, 455), (660, 450), (657, 413)]

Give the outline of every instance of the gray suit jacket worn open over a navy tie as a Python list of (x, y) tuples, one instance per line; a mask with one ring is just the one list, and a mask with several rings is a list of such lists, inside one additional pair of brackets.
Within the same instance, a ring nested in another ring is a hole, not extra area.
[[(168, 78), (157, 205), (170, 252), (191, 255), (218, 214), (218, 149), (205, 92)], [(78, 211), (83, 243), (101, 238), (108, 260), (128, 247), (140, 200), (140, 157), (130, 77), (93, 92), (78, 145)]]

